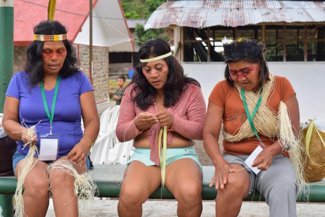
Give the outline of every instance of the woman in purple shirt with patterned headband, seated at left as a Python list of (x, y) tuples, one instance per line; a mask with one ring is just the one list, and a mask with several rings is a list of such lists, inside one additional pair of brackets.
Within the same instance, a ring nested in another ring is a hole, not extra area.
[[(86, 76), (78, 71), (74, 49), (60, 23), (40, 22), (34, 34), (35, 40), (27, 50), (25, 71), (12, 77), (4, 103), (3, 127), (10, 138), (18, 140), (17, 151), (12, 157), (15, 176), (19, 176), (22, 169), (19, 166), (23, 165), (29, 150), (29, 147), (23, 148), (30, 138), (21, 139), (22, 131), (27, 130), (22, 122), (27, 127), (36, 125), (32, 145), (42, 151), (40, 135), (55, 135), (59, 142), (50, 145), (58, 145), (56, 160), (70, 160), (79, 173), (84, 172), (89, 169), (86, 154), (99, 130), (93, 89)], [(50, 187), (55, 215), (78, 216), (73, 177), (58, 170), (51, 172), (55, 175), (48, 174), (49, 162), (52, 161), (37, 161), (25, 177), (25, 214), (45, 216)]]

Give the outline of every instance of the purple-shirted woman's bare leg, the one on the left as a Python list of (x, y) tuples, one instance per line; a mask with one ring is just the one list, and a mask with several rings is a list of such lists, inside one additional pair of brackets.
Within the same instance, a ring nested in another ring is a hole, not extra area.
[[(17, 163), (15, 168), (16, 177), (19, 176), (18, 168), (23, 161), (24, 159)], [(49, 198), (46, 166), (47, 163), (38, 161), (25, 177), (22, 198), (26, 216), (44, 217), (46, 215)]]

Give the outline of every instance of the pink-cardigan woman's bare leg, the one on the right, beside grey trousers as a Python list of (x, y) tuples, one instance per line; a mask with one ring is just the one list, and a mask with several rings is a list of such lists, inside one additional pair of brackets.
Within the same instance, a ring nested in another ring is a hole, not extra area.
[(202, 172), (190, 158), (181, 158), (166, 167), (165, 185), (178, 201), (179, 217), (196, 217), (202, 212)]

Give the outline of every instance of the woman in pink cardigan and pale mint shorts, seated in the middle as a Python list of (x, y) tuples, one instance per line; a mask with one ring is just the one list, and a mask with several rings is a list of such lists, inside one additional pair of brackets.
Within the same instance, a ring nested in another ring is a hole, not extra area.
[(178, 216), (200, 216), (202, 170), (194, 141), (202, 140), (205, 102), (198, 82), (183, 68), (162, 39), (138, 51), (140, 64), (125, 89), (116, 135), (133, 139), (135, 151), (124, 172), (118, 215), (141, 216), (142, 203), (161, 184), (158, 134), (167, 126), (165, 187), (178, 201)]

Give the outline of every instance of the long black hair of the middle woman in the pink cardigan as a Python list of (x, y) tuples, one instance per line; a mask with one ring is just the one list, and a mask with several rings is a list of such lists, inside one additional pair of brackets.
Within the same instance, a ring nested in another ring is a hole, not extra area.
[[(157, 57), (170, 52), (169, 44), (163, 39), (150, 39), (146, 41), (138, 51), (139, 59), (148, 59), (150, 57)], [(163, 96), (165, 107), (173, 106), (181, 96), (182, 92), (187, 88), (188, 83), (200, 86), (199, 83), (193, 79), (184, 75), (184, 70), (179, 62), (171, 55), (164, 58), (168, 66), (167, 81), (163, 86)], [(146, 63), (139, 63), (132, 76), (131, 84), (134, 84), (134, 88), (131, 91), (131, 100), (142, 109), (146, 110), (153, 103), (156, 96), (156, 89), (149, 84), (144, 77), (142, 67)], [(135, 91), (135, 96), (133, 96)]]

